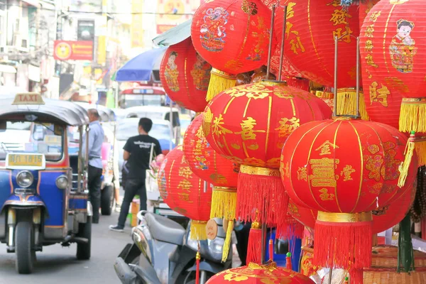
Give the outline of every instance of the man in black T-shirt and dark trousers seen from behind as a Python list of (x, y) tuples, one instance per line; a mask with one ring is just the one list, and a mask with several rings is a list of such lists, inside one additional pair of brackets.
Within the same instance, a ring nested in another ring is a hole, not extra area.
[(158, 140), (148, 136), (148, 132), (152, 127), (153, 121), (151, 119), (140, 119), (138, 125), (139, 135), (129, 138), (126, 145), (124, 145), (123, 158), (129, 163), (130, 170), (126, 186), (124, 187), (124, 200), (121, 203), (119, 224), (109, 226), (109, 229), (112, 231), (124, 231), (129, 207), (135, 195), (139, 195), (141, 198), (140, 209), (146, 210), (145, 177), (146, 170), (149, 169), (151, 163), (151, 147), (153, 147), (155, 155), (161, 154), (161, 147)]

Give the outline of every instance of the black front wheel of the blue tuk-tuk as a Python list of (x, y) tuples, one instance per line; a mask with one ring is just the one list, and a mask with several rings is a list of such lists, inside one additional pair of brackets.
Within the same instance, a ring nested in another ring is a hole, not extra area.
[(18, 222), (15, 229), (16, 271), (20, 274), (33, 272), (33, 225), (30, 222)]

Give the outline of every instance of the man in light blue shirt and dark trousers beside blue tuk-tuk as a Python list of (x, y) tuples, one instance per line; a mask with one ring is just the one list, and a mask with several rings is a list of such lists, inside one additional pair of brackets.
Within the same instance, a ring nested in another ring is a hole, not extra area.
[[(92, 223), (99, 223), (99, 207), (101, 207), (101, 177), (102, 177), (102, 143), (104, 143), (104, 129), (99, 123), (99, 113), (96, 109), (89, 109), (89, 170), (87, 187), (89, 200), (92, 203)], [(84, 143), (86, 139), (84, 138)], [(85, 145), (83, 151), (86, 151)]]

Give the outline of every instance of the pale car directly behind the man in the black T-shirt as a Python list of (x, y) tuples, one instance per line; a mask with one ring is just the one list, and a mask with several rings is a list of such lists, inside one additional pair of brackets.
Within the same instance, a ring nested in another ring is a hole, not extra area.
[[(138, 135), (138, 118), (128, 118), (121, 119), (117, 122), (116, 129), (116, 140), (118, 141), (119, 147), (119, 175), (120, 182), (122, 178), (122, 169), (123, 169), (123, 147), (126, 144), (127, 139), (131, 136)], [(170, 124), (169, 121), (161, 119), (153, 119), (153, 128), (149, 131), (149, 135), (153, 138), (158, 139), (160, 142), (161, 149), (163, 154), (167, 154), (170, 149), (170, 141), (172, 144), (172, 149), (175, 148), (175, 141), (173, 141), (172, 134), (170, 133)]]

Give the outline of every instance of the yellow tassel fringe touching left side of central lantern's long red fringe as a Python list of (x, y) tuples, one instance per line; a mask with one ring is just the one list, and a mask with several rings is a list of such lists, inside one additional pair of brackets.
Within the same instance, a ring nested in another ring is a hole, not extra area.
[(210, 219), (224, 218), (235, 219), (236, 210), (236, 188), (235, 187), (213, 187), (212, 209)]

